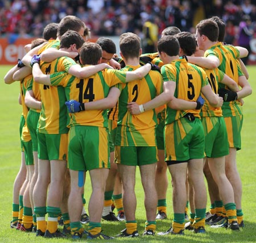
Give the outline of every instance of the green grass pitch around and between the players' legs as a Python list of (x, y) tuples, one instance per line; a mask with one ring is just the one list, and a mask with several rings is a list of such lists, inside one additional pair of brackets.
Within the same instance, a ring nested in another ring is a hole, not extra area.
[[(71, 242), (71, 238), (66, 240), (53, 239), (47, 240), (42, 237), (35, 237), (33, 233), (24, 233), (10, 229), (11, 211), (12, 211), (12, 195), (13, 182), (18, 173), (20, 165), (20, 142), (19, 142), (19, 119), (22, 107), (18, 104), (19, 84), (5, 85), (3, 77), (10, 66), (0, 67), (0, 104), (1, 104), (1, 126), (0, 126), (0, 242)], [(256, 77), (255, 66), (248, 66), (250, 73), (250, 83), (253, 90), (256, 90), (254, 77)], [(237, 165), (240, 171), (243, 198), (242, 208), (244, 213), (246, 227), (240, 232), (227, 231), (225, 229), (211, 229), (207, 227), (207, 233), (204, 235), (194, 234), (193, 232), (185, 232), (184, 237), (179, 236), (155, 236), (152, 238), (139, 237), (136, 239), (115, 239), (112, 242), (173, 242), (173, 243), (196, 243), (196, 242), (256, 242), (256, 98), (252, 94), (245, 98), (244, 122), (242, 129), (242, 150), (237, 153)], [(146, 219), (143, 206), (143, 190), (137, 170), (137, 212), (138, 231), (141, 234), (144, 229), (144, 221)], [(170, 178), (170, 175), (168, 175)], [(89, 177), (85, 185), (86, 200), (89, 200), (90, 182)], [(156, 225), (156, 231), (165, 231), (170, 227), (172, 220), (172, 203), (171, 203), (171, 186), (168, 188), (168, 220), (160, 221)], [(209, 208), (209, 200), (208, 200)], [(125, 223), (109, 223), (102, 221), (102, 229), (104, 233), (114, 236), (125, 228)], [(97, 242), (97, 241), (93, 241)]]

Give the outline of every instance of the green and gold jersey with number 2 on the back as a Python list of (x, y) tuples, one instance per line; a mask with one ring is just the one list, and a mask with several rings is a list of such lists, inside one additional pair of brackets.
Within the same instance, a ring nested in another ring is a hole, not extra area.
[[(126, 66), (122, 70), (131, 71), (138, 66)], [(162, 76), (157, 71), (150, 71), (144, 78), (122, 86), (118, 100), (118, 122), (115, 145), (118, 146), (156, 146), (155, 125), (157, 123), (155, 110), (131, 115), (127, 103), (143, 104), (163, 91)]]

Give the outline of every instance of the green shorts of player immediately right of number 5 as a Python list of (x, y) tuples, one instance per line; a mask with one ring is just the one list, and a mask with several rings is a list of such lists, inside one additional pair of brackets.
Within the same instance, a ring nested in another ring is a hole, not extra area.
[(205, 154), (218, 158), (229, 154), (228, 133), (223, 116), (207, 116), (201, 119), (205, 134)]

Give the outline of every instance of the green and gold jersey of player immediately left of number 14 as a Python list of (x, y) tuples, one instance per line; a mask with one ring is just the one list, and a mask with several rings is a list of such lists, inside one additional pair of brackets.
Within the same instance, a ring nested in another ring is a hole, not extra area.
[[(69, 57), (59, 57), (52, 62), (40, 63), (44, 74), (55, 72), (68, 72), (76, 62)], [(68, 133), (68, 111), (65, 106), (65, 89), (63, 86), (41, 85), (42, 111), (38, 122), (38, 131), (48, 134)]]

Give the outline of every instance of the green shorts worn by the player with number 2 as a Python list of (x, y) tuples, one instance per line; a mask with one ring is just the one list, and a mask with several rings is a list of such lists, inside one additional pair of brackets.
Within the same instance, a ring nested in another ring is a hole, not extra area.
[(156, 146), (115, 146), (115, 163), (122, 165), (150, 165), (158, 161)]

